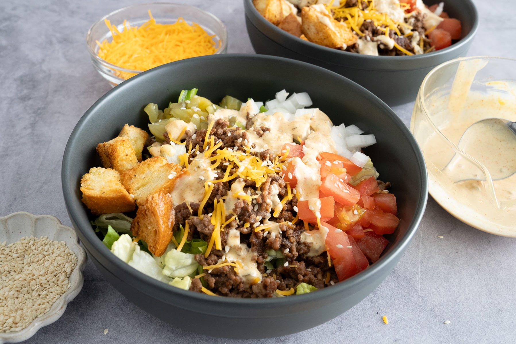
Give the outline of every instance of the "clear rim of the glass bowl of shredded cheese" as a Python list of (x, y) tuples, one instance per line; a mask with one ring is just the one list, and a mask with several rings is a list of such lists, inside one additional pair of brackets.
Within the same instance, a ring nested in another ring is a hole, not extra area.
[[(104, 60), (103, 58), (101, 58), (97, 54), (95, 54), (95, 51), (93, 51), (91, 49), (89, 43), (90, 43), (91, 31), (92, 31), (93, 27), (95, 25), (97, 25), (97, 24), (100, 24), (100, 23), (104, 22), (104, 20), (107, 19), (109, 16), (117, 14), (117, 13), (125, 11), (125, 10), (128, 10), (128, 9), (131, 9), (131, 8), (142, 7), (142, 6), (149, 6), (149, 5), (169, 5), (169, 6), (172, 6), (172, 7), (190, 8), (190, 9), (194, 9), (194, 10), (200, 12), (200, 13), (203, 13), (203, 14), (206, 14), (208, 16), (211, 16), (215, 20), (215, 22), (217, 22), (218, 24), (221, 25), (221, 27), (223, 29), (223, 33), (222, 33), (223, 37), (220, 37), (221, 45), (218, 48), (218, 50), (215, 52), (215, 54), (213, 54), (213, 55), (221, 54), (222, 51), (224, 51), (228, 47), (228, 30), (226, 29), (224, 23), (222, 23), (222, 21), (215, 14), (210, 13), (208, 11), (205, 11), (205, 10), (200, 9), (198, 7), (195, 7), (195, 6), (190, 6), (190, 5), (174, 4), (174, 3), (163, 3), (163, 2), (153, 2), (153, 3), (135, 4), (135, 5), (130, 5), (130, 6), (119, 8), (118, 10), (112, 11), (112, 12), (102, 16), (101, 19), (99, 19), (98, 21), (94, 22), (90, 26), (90, 28), (88, 29), (88, 32), (86, 33), (86, 45), (88, 46), (88, 53), (90, 54), (90, 56), (93, 57), (96, 62), (100, 62), (103, 65), (105, 65), (105, 66), (107, 66), (107, 67), (109, 67), (111, 69), (117, 70), (117, 71), (126, 72), (126, 73), (135, 73), (135, 74), (139, 74), (139, 73), (145, 72), (145, 71), (137, 71), (137, 70), (130, 70), (130, 69), (127, 69), (127, 68), (122, 68), (120, 66), (117, 66), (115, 64), (107, 62), (106, 60)], [(120, 80), (124, 81), (125, 79), (121, 79), (120, 78)]]

